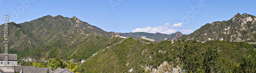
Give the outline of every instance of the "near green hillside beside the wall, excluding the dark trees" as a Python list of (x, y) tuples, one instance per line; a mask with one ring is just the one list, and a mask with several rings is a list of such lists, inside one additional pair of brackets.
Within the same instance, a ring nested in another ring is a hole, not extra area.
[[(184, 53), (190, 54), (191, 63), (197, 66), (203, 66), (203, 61), (195, 61), (194, 57), (199, 60), (207, 57), (207, 48), (215, 47), (220, 55), (219, 59), (214, 61), (217, 69), (215, 71), (233, 70), (236, 63), (241, 63), (243, 55), (252, 55), (255, 58), (256, 51), (254, 44), (245, 42), (228, 42), (228, 41), (207, 41), (199, 43), (196, 40), (178, 40), (161, 41), (154, 44), (145, 44), (132, 38), (125, 39), (122, 43), (113, 45), (87, 59), (77, 71), (78, 72), (171, 72), (172, 69), (178, 68), (181, 56)], [(193, 51), (189, 53), (190, 50)], [(194, 52), (195, 51), (195, 52)], [(182, 56), (184, 57), (184, 56)], [(201, 59), (200, 59), (201, 58)], [(255, 60), (255, 59), (254, 59)], [(202, 62), (202, 63), (201, 63)], [(185, 68), (180, 66), (181, 68)], [(196, 66), (191, 66), (195, 67)]]

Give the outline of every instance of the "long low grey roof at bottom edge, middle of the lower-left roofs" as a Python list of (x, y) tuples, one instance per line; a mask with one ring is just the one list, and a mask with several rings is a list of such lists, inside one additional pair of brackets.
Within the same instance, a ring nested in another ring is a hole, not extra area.
[(49, 72), (52, 72), (52, 69), (50, 67), (39, 67), (39, 68), (31, 68), (31, 67), (22, 67), (22, 71), (24, 73), (46, 73), (47, 70), (49, 70)]

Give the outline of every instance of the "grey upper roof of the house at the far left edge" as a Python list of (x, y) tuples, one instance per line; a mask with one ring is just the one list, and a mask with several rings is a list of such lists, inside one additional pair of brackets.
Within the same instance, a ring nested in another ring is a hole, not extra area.
[(18, 59), (17, 59), (17, 54), (3, 54), (3, 53), (1, 53), (0, 54), (0, 61), (3, 61), (3, 60), (5, 60), (5, 56), (8, 56), (8, 61), (18, 61)]

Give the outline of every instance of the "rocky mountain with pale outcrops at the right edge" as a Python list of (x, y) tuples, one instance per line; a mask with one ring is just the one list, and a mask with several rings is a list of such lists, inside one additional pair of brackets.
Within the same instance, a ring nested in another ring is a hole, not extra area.
[(223, 38), (228, 41), (256, 41), (256, 17), (250, 14), (236, 14), (225, 21), (206, 23), (200, 29), (181, 38), (197, 39), (199, 41)]

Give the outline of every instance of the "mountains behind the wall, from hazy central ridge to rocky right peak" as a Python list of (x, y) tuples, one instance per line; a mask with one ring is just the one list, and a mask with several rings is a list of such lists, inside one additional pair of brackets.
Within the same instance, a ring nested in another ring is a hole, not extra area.
[(223, 38), (227, 41), (246, 41), (255, 42), (256, 37), (256, 17), (250, 14), (237, 13), (229, 20), (215, 21), (212, 23), (206, 23), (200, 29), (188, 35), (176, 32), (173, 34), (161, 34), (161, 33), (119, 33), (122, 36), (140, 38), (146, 36), (147, 38), (155, 39), (157, 42), (163, 40), (172, 40), (172, 38), (187, 38), (196, 39), (199, 41), (216, 40)]

